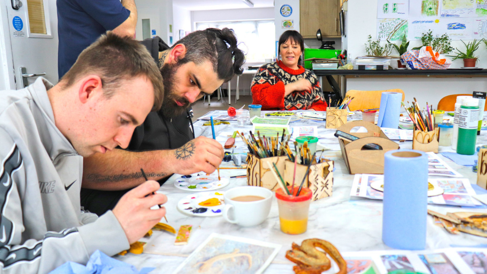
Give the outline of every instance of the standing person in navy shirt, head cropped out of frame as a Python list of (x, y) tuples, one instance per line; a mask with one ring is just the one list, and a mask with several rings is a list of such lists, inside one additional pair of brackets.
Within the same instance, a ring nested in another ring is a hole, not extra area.
[(78, 55), (107, 30), (119, 36), (135, 35), (137, 9), (134, 0), (57, 0), (56, 6), (59, 79)]

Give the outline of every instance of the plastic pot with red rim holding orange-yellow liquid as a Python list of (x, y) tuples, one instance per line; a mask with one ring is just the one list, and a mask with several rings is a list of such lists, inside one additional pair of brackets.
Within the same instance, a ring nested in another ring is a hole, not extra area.
[(301, 234), (308, 229), (311, 190), (303, 187), (300, 195), (296, 196), (298, 189), (295, 187), (293, 191), (288, 187), (293, 195), (287, 195), (281, 188), (276, 191), (281, 231), (286, 234)]

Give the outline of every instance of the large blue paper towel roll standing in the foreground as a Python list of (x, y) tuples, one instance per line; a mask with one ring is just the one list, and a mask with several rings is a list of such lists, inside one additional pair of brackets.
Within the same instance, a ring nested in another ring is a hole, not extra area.
[(426, 246), (428, 155), (392, 150), (384, 155), (382, 240), (396, 249)]

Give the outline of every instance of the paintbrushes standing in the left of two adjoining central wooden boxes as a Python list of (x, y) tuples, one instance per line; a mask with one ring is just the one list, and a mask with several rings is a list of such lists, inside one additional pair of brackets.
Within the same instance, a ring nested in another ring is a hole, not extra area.
[(265, 135), (261, 137), (259, 131), (257, 131), (258, 138), (255, 138), (252, 131), (250, 131), (248, 139), (243, 133), (239, 133), (239, 135), (242, 137), (242, 140), (244, 140), (244, 143), (247, 145), (251, 154), (259, 158), (267, 158), (292, 155), (291, 150), (287, 145), (291, 135), (287, 135), (284, 132), (285, 131), (282, 130), (281, 137), (279, 137), (279, 133), (275, 137), (265, 137)]

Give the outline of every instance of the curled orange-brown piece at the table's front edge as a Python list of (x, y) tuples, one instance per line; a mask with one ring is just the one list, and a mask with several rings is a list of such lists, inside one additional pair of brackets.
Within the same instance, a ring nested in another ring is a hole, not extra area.
[(323, 249), (335, 260), (340, 269), (337, 274), (347, 273), (347, 263), (337, 248), (330, 242), (316, 238), (302, 241), (301, 246), (293, 243), (292, 250), (286, 252), (286, 258), (298, 264), (293, 267), (294, 273), (320, 274), (330, 269), (330, 259), (326, 256), (326, 253), (318, 251), (316, 247)]

